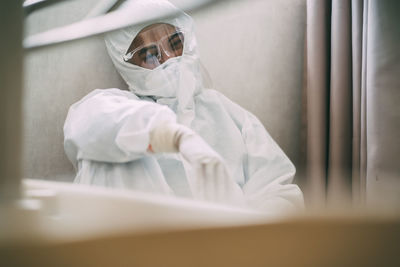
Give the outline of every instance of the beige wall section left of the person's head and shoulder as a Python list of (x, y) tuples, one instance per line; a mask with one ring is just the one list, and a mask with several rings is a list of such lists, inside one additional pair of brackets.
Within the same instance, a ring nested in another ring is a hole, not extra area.
[[(82, 19), (96, 0), (66, 1), (28, 17), (26, 34)], [(25, 57), (23, 175), (72, 181), (64, 154), (63, 125), (68, 107), (95, 88), (125, 84), (100, 36), (28, 52)]]

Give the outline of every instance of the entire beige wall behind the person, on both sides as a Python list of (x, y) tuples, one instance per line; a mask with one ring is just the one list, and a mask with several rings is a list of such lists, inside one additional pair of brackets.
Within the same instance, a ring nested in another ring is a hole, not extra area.
[[(34, 13), (26, 33), (77, 21), (96, 2), (68, 1)], [(296, 164), (305, 0), (232, 1), (194, 18), (216, 89), (255, 113)], [(101, 37), (28, 52), (24, 82), (24, 177), (70, 181), (62, 145), (68, 107), (95, 88), (126, 86)]]

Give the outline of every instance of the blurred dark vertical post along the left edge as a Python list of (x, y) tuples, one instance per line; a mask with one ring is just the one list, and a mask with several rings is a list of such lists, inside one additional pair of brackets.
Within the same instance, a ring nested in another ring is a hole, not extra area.
[(20, 195), (22, 1), (0, 1), (0, 201)]

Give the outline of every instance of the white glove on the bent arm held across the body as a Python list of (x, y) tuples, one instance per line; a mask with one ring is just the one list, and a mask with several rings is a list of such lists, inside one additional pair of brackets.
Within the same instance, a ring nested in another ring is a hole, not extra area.
[(242, 189), (232, 179), (221, 156), (191, 129), (175, 123), (160, 125), (151, 131), (150, 145), (155, 153), (179, 150), (195, 198), (244, 204)]

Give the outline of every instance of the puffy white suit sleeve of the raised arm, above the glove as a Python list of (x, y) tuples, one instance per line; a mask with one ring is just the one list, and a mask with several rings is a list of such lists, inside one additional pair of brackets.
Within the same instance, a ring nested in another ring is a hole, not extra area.
[(123, 163), (145, 155), (149, 132), (175, 122), (166, 106), (120, 89), (96, 89), (73, 104), (64, 124), (64, 150), (75, 168), (81, 159)]

